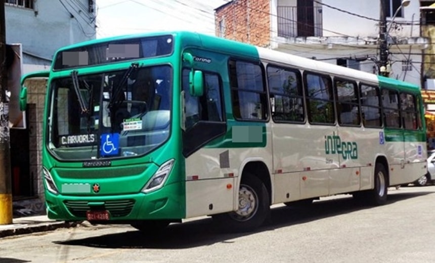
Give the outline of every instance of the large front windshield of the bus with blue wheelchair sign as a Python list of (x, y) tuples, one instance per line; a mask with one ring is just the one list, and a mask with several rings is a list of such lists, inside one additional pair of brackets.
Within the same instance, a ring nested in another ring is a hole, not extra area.
[(83, 160), (148, 153), (169, 137), (172, 69), (168, 65), (54, 79), (50, 151)]

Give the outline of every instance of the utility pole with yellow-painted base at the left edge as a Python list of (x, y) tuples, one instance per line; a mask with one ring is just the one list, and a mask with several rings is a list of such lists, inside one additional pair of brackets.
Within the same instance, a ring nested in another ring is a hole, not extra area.
[(0, 225), (12, 224), (11, 155), (9, 103), (6, 97), (6, 18), (5, 0), (0, 0)]

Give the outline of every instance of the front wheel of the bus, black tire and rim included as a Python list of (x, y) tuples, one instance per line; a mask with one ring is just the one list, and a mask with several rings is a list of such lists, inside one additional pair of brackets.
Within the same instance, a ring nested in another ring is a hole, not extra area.
[(263, 225), (269, 216), (269, 193), (265, 184), (253, 174), (243, 173), (238, 203), (237, 211), (213, 215), (213, 221), (222, 230), (250, 232)]

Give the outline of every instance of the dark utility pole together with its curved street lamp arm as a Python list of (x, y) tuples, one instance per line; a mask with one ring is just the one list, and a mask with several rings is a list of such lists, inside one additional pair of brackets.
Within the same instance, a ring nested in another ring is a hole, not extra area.
[(379, 22), (379, 75), (382, 76), (389, 76), (390, 72), (390, 65), (388, 62), (388, 44), (386, 37), (389, 33), (389, 30), (391, 30), (391, 26), (393, 25), (394, 19), (396, 18), (397, 14), (399, 13), (399, 10), (402, 9), (402, 7), (409, 6), (410, 0), (403, 0), (400, 7), (397, 8), (396, 12), (394, 13), (393, 17), (391, 17), (390, 25), (386, 26), (386, 16), (385, 16), (385, 1), (389, 0), (380, 0), (380, 22)]

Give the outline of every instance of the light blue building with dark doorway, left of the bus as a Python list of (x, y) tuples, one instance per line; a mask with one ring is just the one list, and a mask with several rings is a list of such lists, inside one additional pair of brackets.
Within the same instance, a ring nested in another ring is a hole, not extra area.
[(32, 79), (25, 83), (28, 105), (22, 114), (19, 79), (26, 73), (48, 70), (57, 49), (96, 38), (95, 0), (5, 2), (6, 42), (13, 61), (8, 73), (13, 201), (15, 206), (38, 212), (44, 209), (41, 135), (46, 82)]

